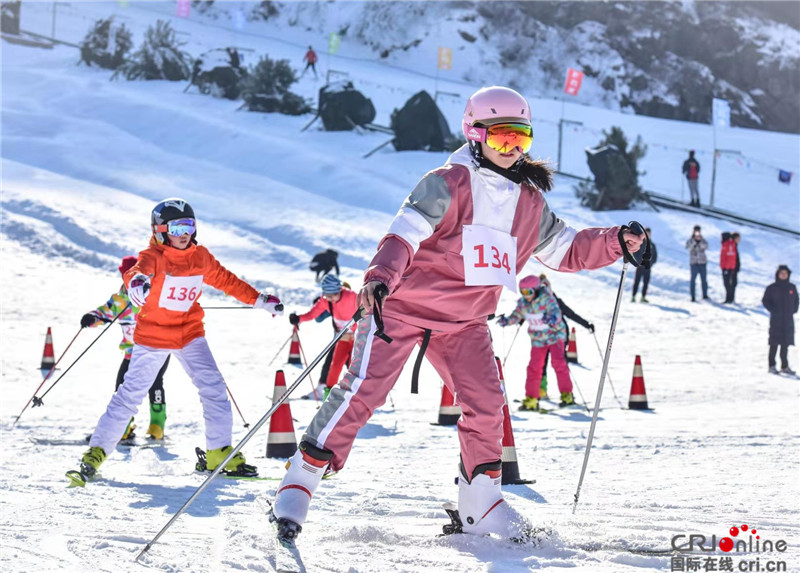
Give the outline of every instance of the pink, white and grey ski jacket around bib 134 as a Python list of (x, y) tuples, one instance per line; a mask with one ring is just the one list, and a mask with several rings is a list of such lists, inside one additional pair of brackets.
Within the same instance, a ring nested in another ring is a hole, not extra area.
[(464, 145), (417, 184), (364, 274), (365, 283), (380, 281), (389, 288), (387, 315), (455, 331), (496, 311), (502, 286), (465, 284), (465, 225), (514, 237), (517, 272), (532, 255), (564, 272), (605, 267), (622, 256), (619, 227), (576, 231), (556, 217), (541, 191), (479, 168)]

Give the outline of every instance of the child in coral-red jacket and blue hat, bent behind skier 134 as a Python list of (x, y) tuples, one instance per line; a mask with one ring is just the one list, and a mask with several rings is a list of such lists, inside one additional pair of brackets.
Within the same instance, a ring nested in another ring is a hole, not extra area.
[[(294, 326), (299, 325), (301, 322), (314, 320), (323, 312), (327, 311), (333, 317), (333, 323), (336, 329), (342, 328), (347, 324), (358, 308), (356, 293), (349, 288), (342, 285), (342, 281), (336, 275), (325, 275), (322, 279), (322, 296), (317, 299), (311, 310), (305, 314), (292, 313), (289, 315), (289, 322)], [(347, 361), (350, 359), (350, 354), (353, 352), (353, 333), (355, 333), (356, 325), (350, 328), (350, 332), (344, 334), (336, 347), (333, 350), (333, 358), (331, 360), (330, 368), (328, 369), (328, 377), (325, 384), (320, 382), (319, 386), (306, 398), (317, 398), (324, 400), (328, 397), (328, 393), (339, 381), (339, 374), (342, 372)]]

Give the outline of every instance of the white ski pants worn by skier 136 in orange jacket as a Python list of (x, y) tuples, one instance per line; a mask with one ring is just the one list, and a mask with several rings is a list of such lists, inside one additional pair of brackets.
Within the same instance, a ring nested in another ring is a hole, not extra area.
[(206, 448), (214, 450), (231, 445), (233, 415), (225, 380), (217, 368), (208, 342), (195, 338), (183, 348), (151, 348), (135, 344), (125, 380), (111, 397), (105, 413), (92, 433), (90, 446), (100, 446), (110, 454), (122, 437), (131, 416), (136, 415), (167, 356), (172, 354), (197, 387), (203, 404), (206, 425)]

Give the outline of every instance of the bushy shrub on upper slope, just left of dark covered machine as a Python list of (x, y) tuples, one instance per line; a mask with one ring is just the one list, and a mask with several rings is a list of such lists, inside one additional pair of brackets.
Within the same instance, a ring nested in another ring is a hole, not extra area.
[(250, 111), (279, 112), (302, 115), (311, 105), (289, 91), (297, 81), (289, 60), (272, 60), (263, 56), (242, 80), (242, 99)]

